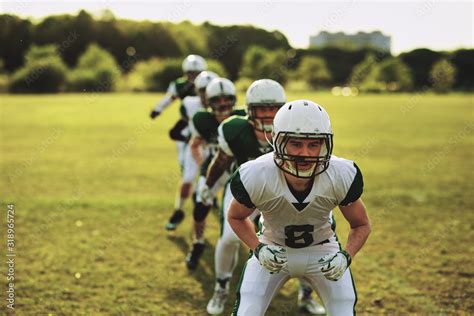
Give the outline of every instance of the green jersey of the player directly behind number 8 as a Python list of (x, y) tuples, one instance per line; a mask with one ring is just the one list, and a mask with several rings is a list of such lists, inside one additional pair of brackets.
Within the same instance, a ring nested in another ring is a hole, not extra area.
[(231, 116), (219, 126), (219, 148), (233, 156), (240, 166), (273, 150), (268, 142), (261, 142), (255, 135), (255, 129), (248, 117)]

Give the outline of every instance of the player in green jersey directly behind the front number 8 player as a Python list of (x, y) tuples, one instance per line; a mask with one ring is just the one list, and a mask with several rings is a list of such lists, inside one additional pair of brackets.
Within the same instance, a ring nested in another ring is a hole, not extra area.
[[(285, 102), (285, 91), (274, 80), (257, 80), (250, 85), (246, 94), (248, 117), (233, 116), (218, 128), (219, 149), (209, 167), (206, 184), (200, 188), (202, 199), (210, 202), (212, 191), (209, 188), (229, 169), (234, 160), (240, 165), (273, 150), (268, 141), (271, 138), (273, 118)], [(226, 186), (221, 235), (215, 252), (215, 291), (207, 305), (209, 314), (223, 312), (229, 280), (238, 261), (240, 240), (225, 220), (231, 198), (230, 188)], [(258, 212), (255, 212), (254, 215), (257, 214)], [(300, 308), (310, 313), (324, 314), (324, 308), (311, 298), (312, 290), (309, 284), (305, 286), (305, 282), (302, 283), (298, 301)]]

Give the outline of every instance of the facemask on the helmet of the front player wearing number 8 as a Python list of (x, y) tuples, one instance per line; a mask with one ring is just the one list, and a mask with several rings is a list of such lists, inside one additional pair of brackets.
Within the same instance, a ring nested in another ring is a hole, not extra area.
[[(286, 173), (297, 178), (313, 178), (329, 167), (333, 148), (333, 135), (329, 133), (292, 133), (279, 132), (274, 139), (274, 160), (276, 165)], [(288, 153), (291, 140), (321, 140), (317, 156), (302, 156)]]

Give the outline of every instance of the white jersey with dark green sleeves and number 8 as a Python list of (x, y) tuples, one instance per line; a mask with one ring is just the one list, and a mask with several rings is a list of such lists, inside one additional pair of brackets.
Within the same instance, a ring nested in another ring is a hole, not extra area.
[(262, 213), (262, 242), (290, 248), (331, 238), (332, 209), (356, 201), (362, 187), (362, 174), (355, 163), (332, 156), (328, 169), (314, 178), (308, 195), (298, 200), (274, 163), (273, 153), (244, 163), (231, 182), (234, 198)]

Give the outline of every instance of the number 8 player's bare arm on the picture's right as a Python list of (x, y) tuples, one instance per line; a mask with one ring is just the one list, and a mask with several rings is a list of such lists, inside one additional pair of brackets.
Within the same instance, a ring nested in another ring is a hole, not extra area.
[(361, 199), (347, 206), (339, 206), (339, 209), (351, 226), (346, 251), (354, 258), (370, 234), (371, 228), (367, 211)]

